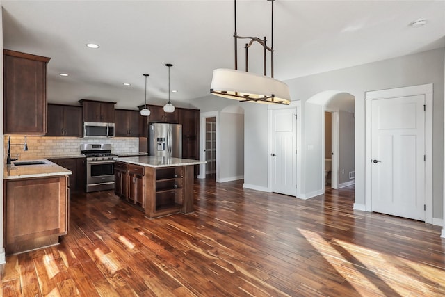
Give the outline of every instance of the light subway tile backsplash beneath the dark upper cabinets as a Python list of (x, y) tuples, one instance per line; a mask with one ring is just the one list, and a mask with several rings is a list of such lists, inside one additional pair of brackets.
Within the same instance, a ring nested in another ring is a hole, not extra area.
[[(8, 135), (4, 139), (4, 152), (6, 156)], [(115, 137), (106, 139), (91, 139), (79, 137), (51, 137), (51, 136), (27, 136), (28, 150), (24, 149), (25, 136), (11, 135), (11, 158), (18, 154), (19, 160), (31, 160), (50, 157), (70, 157), (81, 154), (82, 143), (110, 143), (111, 152), (114, 154), (137, 154), (139, 151), (139, 138)]]

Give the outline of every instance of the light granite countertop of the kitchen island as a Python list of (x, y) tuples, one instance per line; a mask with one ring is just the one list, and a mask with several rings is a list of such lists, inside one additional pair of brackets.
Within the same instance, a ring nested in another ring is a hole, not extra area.
[(205, 161), (180, 159), (162, 156), (131, 156), (131, 157), (119, 157), (116, 161), (124, 163), (130, 163), (147, 167), (170, 167), (170, 166), (186, 166), (205, 164)]

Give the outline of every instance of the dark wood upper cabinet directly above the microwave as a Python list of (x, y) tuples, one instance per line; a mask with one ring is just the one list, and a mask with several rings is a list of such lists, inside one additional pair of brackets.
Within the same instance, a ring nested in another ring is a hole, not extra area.
[(79, 102), (83, 105), (84, 122), (114, 122), (115, 121), (115, 102), (102, 102), (94, 100), (81, 99)]

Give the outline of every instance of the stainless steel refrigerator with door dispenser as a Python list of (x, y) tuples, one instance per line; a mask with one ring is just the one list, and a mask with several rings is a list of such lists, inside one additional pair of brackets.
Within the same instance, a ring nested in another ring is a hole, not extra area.
[(149, 156), (182, 158), (182, 125), (150, 123), (147, 146)]

